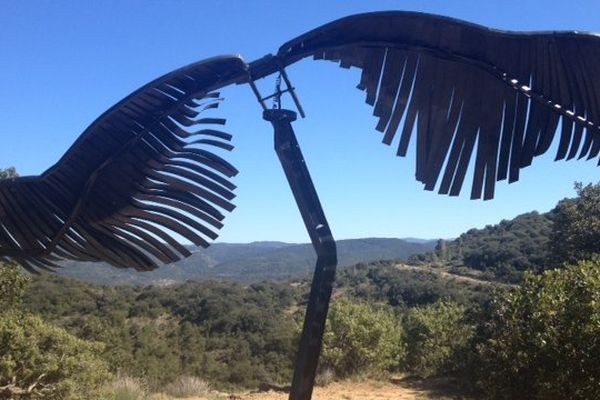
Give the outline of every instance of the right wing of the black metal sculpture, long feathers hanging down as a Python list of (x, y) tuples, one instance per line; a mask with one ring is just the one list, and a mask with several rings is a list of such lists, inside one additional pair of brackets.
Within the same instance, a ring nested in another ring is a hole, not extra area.
[(358, 88), (383, 142), (399, 136), (404, 156), (416, 136), (416, 178), (428, 190), (458, 195), (474, 161), (471, 197), (491, 199), (495, 182), (518, 180), (557, 130), (557, 160), (600, 152), (598, 35), (503, 32), (383, 12), (324, 25), (278, 56), (285, 65), (313, 56), (360, 68)]

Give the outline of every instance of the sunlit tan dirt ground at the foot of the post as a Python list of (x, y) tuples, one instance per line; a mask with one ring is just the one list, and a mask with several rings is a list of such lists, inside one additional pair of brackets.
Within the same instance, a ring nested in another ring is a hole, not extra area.
[[(285, 392), (233, 394), (220, 397), (227, 400), (287, 400)], [(451, 383), (446, 380), (395, 379), (385, 382), (336, 382), (317, 387), (313, 400), (459, 400)], [(202, 399), (195, 399), (202, 400)]]

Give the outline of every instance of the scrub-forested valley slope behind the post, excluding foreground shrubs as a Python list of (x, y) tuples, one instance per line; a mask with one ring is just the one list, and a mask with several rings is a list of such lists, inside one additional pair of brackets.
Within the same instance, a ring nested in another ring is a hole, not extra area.
[[(334, 297), (400, 312), (440, 300), (481, 304), (491, 289), (377, 262), (342, 271)], [(43, 275), (24, 304), (77, 337), (105, 343), (103, 357), (120, 374), (157, 386), (192, 375), (218, 387), (257, 387), (289, 382), (307, 295), (308, 281), (109, 287)]]

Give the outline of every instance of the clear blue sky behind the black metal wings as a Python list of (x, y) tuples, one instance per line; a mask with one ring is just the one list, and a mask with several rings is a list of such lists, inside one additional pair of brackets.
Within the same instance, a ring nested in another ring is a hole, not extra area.
[[(100, 113), (182, 65), (218, 54), (247, 61), (330, 20), (375, 10), (448, 15), (499, 29), (600, 32), (596, 1), (3, 1), (0, 4), (0, 166), (38, 174)], [(296, 132), (338, 239), (454, 237), (572, 197), (598, 181), (596, 161), (554, 163), (552, 151), (497, 185), (492, 201), (422, 190), (414, 158), (380, 143), (354, 87), (357, 71), (306, 60), (290, 68), (308, 118)], [(265, 82), (271, 87), (272, 81)], [(307, 242), (272, 150), (271, 127), (249, 88), (223, 91), (235, 135), (238, 208), (219, 240)]]

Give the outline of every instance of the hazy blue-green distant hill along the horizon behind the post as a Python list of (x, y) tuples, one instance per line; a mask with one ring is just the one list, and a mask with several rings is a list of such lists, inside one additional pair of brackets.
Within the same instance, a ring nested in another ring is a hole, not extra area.
[[(349, 239), (338, 243), (340, 267), (376, 260), (406, 260), (430, 252), (435, 240)], [(284, 281), (312, 272), (310, 244), (283, 242), (214, 243), (191, 257), (151, 272), (119, 269), (104, 263), (67, 262), (59, 275), (106, 285), (168, 285), (187, 280), (224, 279), (236, 282)]]

